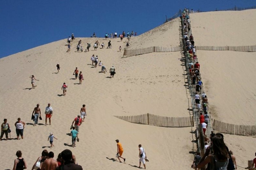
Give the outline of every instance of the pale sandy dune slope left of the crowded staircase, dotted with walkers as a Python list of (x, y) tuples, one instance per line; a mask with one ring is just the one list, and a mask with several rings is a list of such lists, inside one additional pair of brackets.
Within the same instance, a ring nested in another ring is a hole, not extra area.
[[(175, 24), (179, 24), (176, 22)], [(175, 25), (173, 24), (173, 25)], [(164, 28), (167, 25), (164, 25)], [(179, 25), (175, 25), (178, 28)], [(158, 34), (158, 32), (155, 32)], [(166, 32), (166, 35), (169, 33)], [(175, 32), (178, 34), (178, 32)], [(152, 34), (153, 36), (154, 34)], [(141, 35), (143, 37), (143, 35)], [(145, 38), (145, 37), (144, 37)], [(112, 49), (98, 49), (90, 52), (75, 52), (80, 38), (72, 42), (71, 52), (67, 53), (66, 40), (39, 46), (0, 60), (0, 108), (2, 119), (8, 118), (12, 127), (12, 138), (15, 138), (14, 123), (20, 117), (26, 123), (23, 140), (1, 141), (2, 167), (12, 168), (17, 150), (23, 152), (32, 167), (43, 148), (52, 150), (57, 156), (64, 149), (70, 149), (76, 155), (84, 169), (134, 169), (138, 166), (138, 144), (145, 147), (150, 162), (148, 169), (170, 169), (189, 167), (192, 159), (191, 128), (163, 128), (147, 125), (131, 124), (113, 115), (140, 115), (151, 113), (170, 117), (186, 117), (188, 99), (184, 86), (183, 66), (180, 52), (151, 53), (147, 55), (121, 58), (118, 47), (125, 47), (119, 39), (111, 40)], [(137, 39), (137, 40), (136, 40)], [(81, 38), (82, 45), (93, 44), (96, 40), (108, 43), (102, 38)], [(154, 39), (155, 43), (165, 46)], [(131, 40), (139, 43), (140, 37)], [(147, 43), (147, 38), (141, 42)], [(175, 44), (179, 43), (179, 35)], [(143, 47), (143, 46), (142, 46)], [(105, 47), (106, 48), (106, 47)], [(114, 65), (116, 75), (108, 78), (109, 73), (99, 73), (101, 68), (93, 68), (91, 55), (98, 55), (107, 70)], [(61, 70), (55, 74), (56, 64)], [(83, 72), (81, 85), (73, 80), (74, 69)], [(30, 89), (30, 75), (35, 75), (37, 87)], [(61, 96), (61, 86), (68, 85), (67, 96)], [(54, 109), (52, 125), (45, 127), (44, 113), (41, 125), (33, 127), (30, 120), (33, 108), (40, 104), (42, 111), (51, 103)], [(76, 148), (69, 147), (71, 137), (70, 125), (79, 114), (82, 104), (87, 106), (87, 118), (80, 128), (80, 142)], [(14, 108), (14, 109), (10, 109)], [(47, 138), (52, 132), (58, 140), (55, 147), (49, 149)], [(116, 138), (124, 147), (126, 164), (113, 162), (116, 155)], [(184, 154), (180, 154), (184, 153)], [(186, 161), (184, 163), (185, 160)]]

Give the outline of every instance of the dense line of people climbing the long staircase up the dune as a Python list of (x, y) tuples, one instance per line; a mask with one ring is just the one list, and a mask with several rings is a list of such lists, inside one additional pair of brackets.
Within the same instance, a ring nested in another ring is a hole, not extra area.
[[(235, 170), (237, 169), (236, 157), (233, 155), (233, 151), (229, 150), (224, 143), (224, 136), (221, 133), (215, 134), (214, 131), (212, 131), (209, 139), (205, 134), (209, 121), (208, 98), (205, 92), (202, 92), (203, 82), (201, 81), (200, 64), (196, 54), (194, 37), (191, 33), (188, 9), (183, 10), (182, 20), (183, 42), (186, 52), (185, 56), (188, 61), (187, 64), (189, 67), (189, 77), (191, 79), (190, 81), (192, 82), (191, 85), (192, 88), (195, 88), (195, 106), (198, 110), (198, 113), (200, 114), (199, 121), (200, 126), (203, 129), (205, 144), (204, 155), (201, 156), (201, 153), (198, 152), (194, 157), (194, 161), (191, 167), (195, 170), (200, 170), (207, 165), (207, 170)], [(201, 110), (204, 112), (204, 115)], [(251, 168), (253, 168), (253, 166), (256, 168), (256, 158), (253, 159)]]

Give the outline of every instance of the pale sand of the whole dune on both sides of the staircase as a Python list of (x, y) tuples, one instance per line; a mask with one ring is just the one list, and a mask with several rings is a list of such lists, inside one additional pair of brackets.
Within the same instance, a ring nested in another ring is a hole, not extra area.
[[(248, 11), (244, 11), (245, 15)], [(250, 11), (249, 14), (252, 13)], [(218, 12), (192, 14), (192, 23), (198, 22), (198, 26), (203, 26), (207, 21), (207, 16), (205, 16), (207, 14), (209, 16), (216, 14), (217, 16)], [(238, 15), (240, 14), (243, 12), (239, 12)], [(195, 20), (194, 16), (198, 18)], [(229, 12), (227, 12), (227, 16), (231, 18)], [(227, 18), (227, 22), (233, 24), (234, 21), (230, 18)], [(218, 20), (217, 17), (216, 20)], [(236, 22), (242, 21), (236, 20)], [(223, 23), (218, 24), (221, 26)], [(175, 19), (143, 35), (133, 37), (130, 48), (177, 46), (180, 44), (179, 26), (179, 19)], [(200, 35), (196, 34), (197, 28), (192, 27), (192, 29), (195, 42), (199, 45), (201, 39)], [(238, 34), (235, 30), (233, 32), (235, 35)], [(212, 34), (217, 33), (219, 33), (217, 29), (212, 32)], [(202, 34), (205, 33), (202, 32)], [(123, 42), (120, 42), (119, 39), (111, 39), (112, 49), (105, 47), (105, 49), (94, 51), (91, 47), (90, 52), (75, 52), (76, 44), (80, 39), (84, 49), (86, 43), (91, 43), (93, 46), (96, 40), (99, 40), (100, 44), (104, 42), (107, 45), (108, 43), (108, 40), (103, 38), (76, 38), (71, 43), (71, 52), (67, 53), (67, 46), (65, 46), (67, 40), (64, 39), (0, 59), (1, 118), (8, 119), (12, 129), (11, 138), (16, 138), (14, 123), (18, 117), (27, 123), (23, 140), (12, 139), (0, 142), (2, 153), (6, 153), (0, 156), (0, 159), (3, 160), (2, 168), (12, 169), (17, 150), (22, 151), (28, 169), (31, 169), (42, 150), (53, 151), (56, 158), (62, 150), (70, 149), (84, 169), (100, 170), (104, 167), (104, 169), (133, 170), (139, 165), (138, 144), (142, 144), (150, 160), (147, 163), (147, 169), (189, 169), (193, 161), (192, 151), (196, 150), (195, 143), (191, 142), (195, 137), (190, 133), (191, 130), (195, 130), (194, 127), (154, 127), (132, 124), (114, 117), (114, 115), (145, 113), (170, 117), (189, 116), (188, 101), (190, 98), (188, 98), (189, 92), (184, 86), (185, 72), (180, 61), (182, 57), (180, 52), (150, 53), (122, 58), (126, 38)], [(253, 45), (251, 43), (241, 45)], [(218, 40), (213, 40), (211, 45), (221, 46), (222, 44)], [(122, 46), (121, 52), (118, 52), (119, 46)], [(239, 63), (243, 63), (246, 69), (242, 69), (243, 74), (240, 72), (231, 74), (230, 70), (233, 69), (221, 65), (213, 72), (212, 69), (218, 64), (212, 63), (213, 61), (208, 60), (207, 56), (214, 55), (216, 52), (198, 51), (203, 82), (205, 81), (205, 89), (209, 93), (207, 94), (209, 105), (212, 107), (210, 109), (215, 108), (215, 112), (218, 113), (218, 117), (215, 118), (218, 120), (224, 119), (225, 122), (236, 122), (236, 124), (253, 124), (251, 117), (255, 110), (255, 106), (253, 106), (255, 95), (252, 95), (252, 92), (255, 91), (253, 90), (255, 81), (250, 80), (249, 75), (250, 72), (255, 73), (254, 53), (250, 53), (250, 56), (249, 53), (242, 53), (243, 56), (247, 56), (247, 59), (242, 62), (241, 58), (239, 59), (241, 53), (219, 53), (221, 55), (217, 59), (222, 63), (227, 61), (225, 57), (232, 58), (234, 63), (229, 63), (228, 66), (233, 66), (236, 69), (235, 66), (239, 67)], [(99, 73), (101, 68), (94, 68), (90, 65), (90, 57), (93, 54), (99, 56), (99, 60), (107, 67), (108, 71), (112, 65), (115, 66), (114, 78), (108, 78), (109, 72)], [(233, 56), (235, 56), (235, 60)], [(210, 58), (214, 59), (213, 56)], [(61, 67), (58, 74), (56, 73), (57, 63)], [(78, 84), (79, 80), (73, 80), (73, 72), (76, 67), (84, 75), (81, 85)], [(206, 69), (208, 67), (211, 69)], [(227, 82), (226, 84), (230, 86), (225, 87), (226, 91), (222, 91), (223, 89), (219, 85), (221, 79), (225, 78), (223, 74), (230, 79), (232, 79), (231, 76), (236, 75), (236, 78), (242, 81), (236, 81), (235, 85), (232, 82)], [(35, 78), (40, 80), (35, 81), (35, 85), (37, 85), (35, 89), (31, 89), (30, 75), (35, 75)], [(242, 83), (244, 81), (246, 84)], [(66, 97), (61, 95), (61, 86), (64, 82), (68, 85)], [(240, 95), (245, 93), (242, 98), (248, 97), (250, 100), (247, 103), (236, 100), (236, 92), (242, 88)], [(225, 92), (229, 92), (228, 95), (232, 96), (231, 101), (227, 101), (230, 98)], [(44, 109), (48, 103), (51, 103), (54, 110), (52, 125), (44, 126)], [(30, 118), (36, 104), (40, 104), (43, 120), (39, 121), (40, 125), (33, 127)], [(71, 137), (67, 134), (70, 133), (70, 125), (79, 114), (82, 104), (86, 104), (87, 117), (80, 127), (80, 141), (77, 143), (77, 147), (73, 148), (68, 146), (71, 144)], [(249, 106), (252, 107), (249, 108)], [(239, 109), (235, 109), (236, 107)], [(227, 108), (229, 108), (228, 111)], [(244, 117), (241, 112), (245, 114)], [(243, 121), (241, 118), (244, 118)], [(49, 142), (47, 141), (50, 132), (58, 138), (58, 140), (54, 140), (55, 147), (52, 149), (48, 148)], [(123, 145), (126, 164), (115, 161), (116, 139), (119, 139)], [(245, 167), (247, 160), (253, 156), (250, 146), (255, 144), (255, 138), (225, 135), (225, 142), (239, 159), (238, 164)]]

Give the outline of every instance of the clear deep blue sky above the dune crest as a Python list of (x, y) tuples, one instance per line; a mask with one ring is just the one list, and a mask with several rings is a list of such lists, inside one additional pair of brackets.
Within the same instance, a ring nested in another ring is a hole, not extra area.
[(122, 31), (138, 35), (179, 9), (212, 11), (256, 6), (256, 0), (3, 0), (0, 58), (71, 36)]

